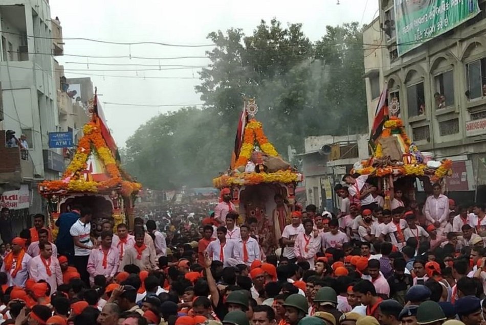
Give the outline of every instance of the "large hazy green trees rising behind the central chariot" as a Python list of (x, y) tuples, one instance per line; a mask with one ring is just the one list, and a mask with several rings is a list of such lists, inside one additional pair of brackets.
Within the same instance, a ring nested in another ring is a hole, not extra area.
[(212, 32), (211, 63), (196, 91), (204, 109), (161, 114), (127, 141), (126, 169), (145, 187), (211, 186), (229, 166), (242, 98), (255, 97), (257, 119), (285, 156), (303, 138), (366, 132), (362, 33), (357, 22), (326, 28), (311, 42), (301, 24), (261, 21), (253, 34)]

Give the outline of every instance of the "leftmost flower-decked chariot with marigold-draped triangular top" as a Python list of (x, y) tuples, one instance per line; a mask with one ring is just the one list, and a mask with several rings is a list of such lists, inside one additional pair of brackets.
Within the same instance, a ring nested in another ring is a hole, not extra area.
[(99, 111), (96, 94), (89, 114), (91, 120), (84, 125), (84, 135), (61, 179), (38, 185), (39, 193), (47, 200), (54, 236), (59, 215), (75, 205), (92, 209), (98, 233), (105, 221), (110, 221), (114, 229), (120, 223), (133, 226), (134, 202), (141, 184), (120, 168), (117, 147)]

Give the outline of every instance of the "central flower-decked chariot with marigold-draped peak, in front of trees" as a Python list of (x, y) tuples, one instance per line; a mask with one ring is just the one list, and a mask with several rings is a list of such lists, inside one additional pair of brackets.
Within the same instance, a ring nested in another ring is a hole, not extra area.
[(295, 210), (295, 188), (303, 175), (284, 161), (255, 119), (255, 99), (245, 101), (230, 169), (213, 179), (215, 188), (229, 188), (238, 223), (257, 221), (252, 230), (266, 253), (278, 247)]

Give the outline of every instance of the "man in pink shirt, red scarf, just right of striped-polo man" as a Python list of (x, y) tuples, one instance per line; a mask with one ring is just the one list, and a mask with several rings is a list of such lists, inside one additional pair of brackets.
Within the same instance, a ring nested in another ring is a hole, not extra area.
[(113, 233), (101, 232), (101, 246), (93, 248), (88, 259), (87, 270), (90, 273), (90, 283), (94, 284), (96, 275), (103, 275), (106, 282), (110, 283), (120, 266), (120, 253), (118, 248), (112, 245)]

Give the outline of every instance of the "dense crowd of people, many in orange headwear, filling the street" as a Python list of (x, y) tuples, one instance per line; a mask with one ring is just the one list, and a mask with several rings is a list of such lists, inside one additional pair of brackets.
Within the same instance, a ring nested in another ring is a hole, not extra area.
[(483, 325), (484, 204), (456, 205), (439, 184), (422, 206), (398, 188), (387, 204), (365, 178), (336, 186), (337, 215), (282, 208), (271, 253), (227, 201), (144, 206), (100, 234), (72, 206), (55, 240), (41, 214), (19, 237), (2, 226), (0, 323)]

